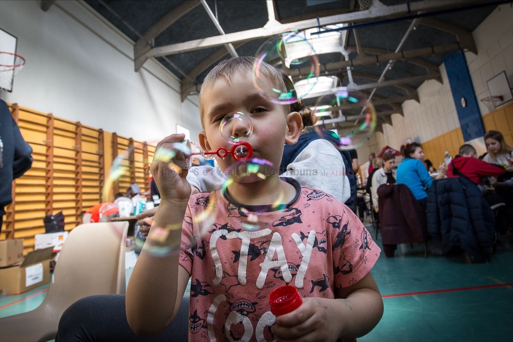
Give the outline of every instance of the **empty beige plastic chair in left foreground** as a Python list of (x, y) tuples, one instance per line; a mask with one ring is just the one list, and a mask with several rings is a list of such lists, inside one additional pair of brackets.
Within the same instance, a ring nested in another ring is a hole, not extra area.
[(55, 338), (62, 313), (95, 294), (124, 294), (128, 222), (89, 223), (68, 235), (43, 303), (35, 310), (0, 318), (0, 341)]

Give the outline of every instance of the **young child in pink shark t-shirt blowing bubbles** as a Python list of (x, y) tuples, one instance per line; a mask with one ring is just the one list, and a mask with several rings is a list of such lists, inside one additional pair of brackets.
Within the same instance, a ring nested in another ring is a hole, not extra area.
[[(243, 112), (253, 125), (248, 140), (253, 157), (273, 167), (266, 177), (235, 179), (224, 190), (189, 199), (186, 171), (178, 174), (170, 170), (172, 161), (153, 160), (150, 169), (162, 200), (126, 295), (128, 322), (137, 335), (166, 329), (189, 277), (192, 341), (347, 340), (367, 334), (381, 319), (383, 301), (370, 274), (380, 249), (344, 204), (278, 176), (283, 144), (297, 142), (301, 116), (259, 94), (252, 82), (253, 62), (232, 58), (205, 78), (199, 139), (205, 151), (230, 150), (220, 122), (228, 113)], [(263, 65), (260, 72), (269, 92), (271, 87), (284, 89), (273, 67)], [(184, 159), (173, 145), (183, 139), (183, 134), (170, 135), (157, 149), (175, 150), (175, 159)], [(225, 172), (238, 162), (227, 156), (218, 163)], [(207, 209), (209, 200), (216, 201), (213, 217), (201, 219), (212, 209), (211, 203)], [(283, 205), (269, 205), (277, 202)], [(245, 229), (245, 213), (258, 216), (261, 227)], [(157, 255), (155, 250), (168, 252)], [(274, 317), (269, 293), (287, 284), (298, 289), (303, 304)]]

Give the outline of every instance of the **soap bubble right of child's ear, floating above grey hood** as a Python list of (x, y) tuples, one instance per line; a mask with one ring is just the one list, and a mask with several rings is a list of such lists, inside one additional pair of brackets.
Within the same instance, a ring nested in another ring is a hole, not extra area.
[[(354, 149), (364, 145), (376, 130), (376, 110), (366, 95), (348, 91), (344, 87), (332, 89), (319, 97), (313, 113), (317, 115), (318, 123), (336, 120), (340, 149)], [(314, 129), (320, 136), (326, 134), (323, 133), (323, 124), (314, 126)]]

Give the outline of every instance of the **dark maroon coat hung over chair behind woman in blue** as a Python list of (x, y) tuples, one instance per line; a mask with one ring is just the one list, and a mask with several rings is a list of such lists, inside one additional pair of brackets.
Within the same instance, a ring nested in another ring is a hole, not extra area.
[(381, 241), (387, 257), (398, 244), (424, 242), (427, 257), (426, 211), (404, 184), (383, 184), (378, 188)]

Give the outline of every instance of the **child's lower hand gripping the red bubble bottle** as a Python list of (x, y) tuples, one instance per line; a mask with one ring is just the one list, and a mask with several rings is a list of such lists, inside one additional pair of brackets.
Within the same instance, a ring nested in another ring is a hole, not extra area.
[[(303, 304), (296, 310), (276, 317), (272, 333), (277, 342), (293, 341), (334, 341), (340, 335), (343, 321), (329, 315), (333, 299), (303, 298)], [(337, 321), (332, 321), (337, 319)]]

